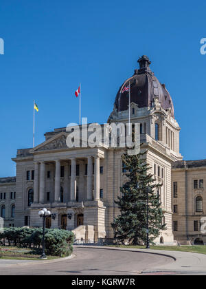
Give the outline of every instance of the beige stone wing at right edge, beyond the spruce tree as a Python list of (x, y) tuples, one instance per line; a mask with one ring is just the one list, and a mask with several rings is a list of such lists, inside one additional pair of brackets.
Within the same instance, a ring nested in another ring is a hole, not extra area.
[(181, 244), (206, 244), (206, 232), (201, 233), (206, 221), (205, 184), (206, 160), (172, 164), (173, 231)]

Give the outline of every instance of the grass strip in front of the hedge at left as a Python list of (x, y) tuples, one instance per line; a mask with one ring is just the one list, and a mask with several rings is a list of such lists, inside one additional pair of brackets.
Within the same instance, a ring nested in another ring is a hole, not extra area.
[[(39, 260), (41, 251), (34, 248), (19, 248), (0, 246), (0, 259), (15, 259), (15, 260)], [(57, 259), (59, 257), (47, 256), (47, 259)]]

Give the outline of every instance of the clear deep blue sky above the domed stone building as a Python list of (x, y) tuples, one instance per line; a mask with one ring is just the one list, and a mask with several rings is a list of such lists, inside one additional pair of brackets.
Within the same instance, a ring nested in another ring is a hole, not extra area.
[(205, 1), (1, 0), (0, 177), (15, 175), (16, 149), (78, 122), (74, 91), (82, 84), (82, 116), (106, 122), (119, 86), (142, 54), (168, 88), (181, 126), (185, 160), (206, 158)]

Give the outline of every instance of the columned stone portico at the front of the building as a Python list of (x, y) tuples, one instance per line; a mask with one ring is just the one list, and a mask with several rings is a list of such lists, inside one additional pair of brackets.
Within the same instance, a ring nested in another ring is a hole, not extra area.
[[(48, 223), (51, 228), (73, 230), (78, 226), (93, 226), (96, 239), (99, 235), (105, 237), (105, 206), (100, 200), (100, 162), (104, 165), (105, 149), (44, 148), (31, 150), (34, 154), (31, 225), (40, 225), (36, 211), (45, 207), (56, 215)], [(103, 219), (97, 222), (100, 211)]]

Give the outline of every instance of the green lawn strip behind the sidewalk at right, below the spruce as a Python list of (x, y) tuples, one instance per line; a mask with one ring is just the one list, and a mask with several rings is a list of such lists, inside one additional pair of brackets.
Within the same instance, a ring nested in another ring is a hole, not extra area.
[[(115, 247), (145, 249), (145, 246), (122, 245), (122, 246), (115, 246)], [(206, 254), (206, 246), (150, 246), (150, 249)]]

